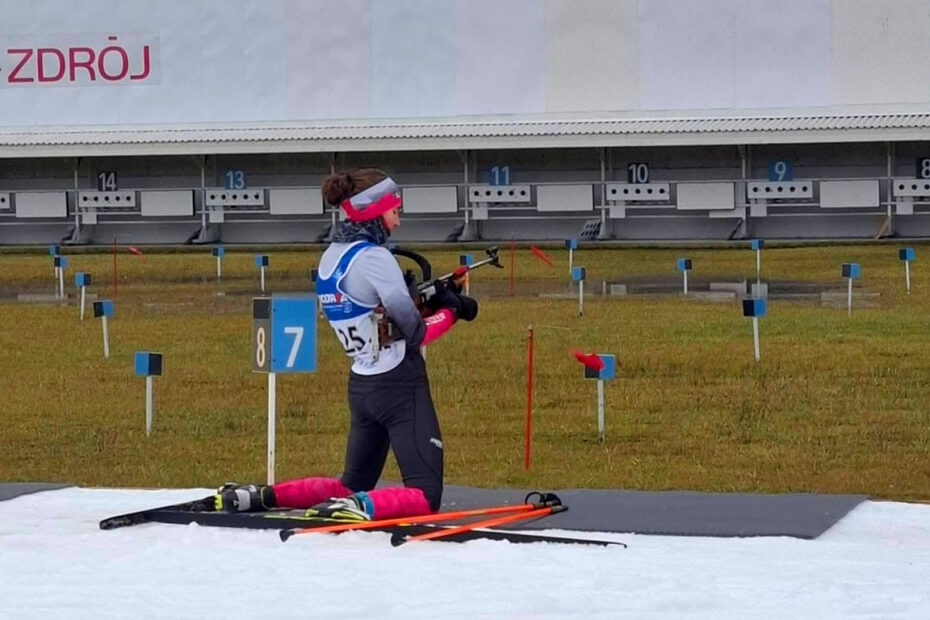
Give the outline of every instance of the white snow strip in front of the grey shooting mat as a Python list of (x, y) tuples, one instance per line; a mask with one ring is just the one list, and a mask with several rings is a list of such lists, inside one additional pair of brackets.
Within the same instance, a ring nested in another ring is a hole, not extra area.
[(100, 519), (208, 489), (0, 502), (0, 618), (930, 618), (930, 505), (864, 502), (817, 540), (633, 534), (629, 548)]

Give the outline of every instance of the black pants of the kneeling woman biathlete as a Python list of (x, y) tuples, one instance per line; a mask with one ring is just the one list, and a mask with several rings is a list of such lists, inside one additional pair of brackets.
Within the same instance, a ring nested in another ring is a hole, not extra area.
[(442, 435), (420, 352), (408, 346), (404, 361), (381, 375), (349, 373), (349, 411), (342, 484), (352, 491), (373, 489), (391, 448), (404, 486), (422, 490), (430, 509), (439, 510)]

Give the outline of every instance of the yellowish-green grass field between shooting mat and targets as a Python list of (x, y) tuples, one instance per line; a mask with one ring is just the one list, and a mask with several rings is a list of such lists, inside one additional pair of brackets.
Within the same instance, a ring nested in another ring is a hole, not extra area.
[[(476, 259), (480, 250), (471, 249)], [(680, 295), (541, 298), (569, 290), (567, 255), (553, 268), (516, 250), (503, 270), (475, 273), (479, 318), (428, 354), (443, 427), (448, 483), (705, 491), (867, 493), (930, 499), (930, 278), (922, 248), (904, 291), (897, 246), (766, 248), (771, 281), (822, 282), (842, 293), (840, 264), (859, 262), (871, 307), (769, 302), (762, 361), (738, 304)], [(426, 251), (435, 275), (460, 249)], [(112, 257), (69, 253), (67, 306), (17, 302), (52, 293), (47, 255), (0, 255), (0, 480), (84, 485), (211, 486), (265, 476), (266, 382), (250, 372), (254, 251), (227, 249), (222, 284), (209, 250), (119, 255), (111, 358), (98, 321), (78, 320), (75, 271), (112, 295)], [(271, 291), (309, 284), (319, 249), (272, 251)], [(752, 278), (747, 249), (585, 249), (591, 289), (601, 279)], [(536, 341), (533, 460), (523, 469), (526, 332)], [(278, 479), (337, 474), (348, 428), (348, 360), (320, 323), (319, 372), (278, 378)], [(569, 347), (614, 353), (607, 433), (596, 441), (595, 384)], [(144, 428), (137, 350), (161, 351), (155, 431)], [(386, 477), (399, 479), (390, 462)]]

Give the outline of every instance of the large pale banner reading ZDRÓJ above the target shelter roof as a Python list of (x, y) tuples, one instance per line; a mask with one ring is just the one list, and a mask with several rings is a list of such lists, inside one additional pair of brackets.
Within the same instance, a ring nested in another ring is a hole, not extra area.
[[(930, 72), (928, 10), (930, 0), (0, 0), (0, 126), (930, 103), (914, 77)], [(908, 36), (883, 35), (884, 21)]]

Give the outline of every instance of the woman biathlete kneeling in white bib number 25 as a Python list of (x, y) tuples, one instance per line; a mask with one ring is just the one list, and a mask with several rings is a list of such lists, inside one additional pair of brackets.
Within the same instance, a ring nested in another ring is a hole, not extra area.
[[(340, 478), (227, 484), (217, 490), (216, 508), (310, 508), (310, 514), (350, 520), (435, 512), (442, 500), (442, 434), (420, 346), (458, 319), (473, 320), (478, 304), (453, 285), (440, 287), (427, 310), (417, 308), (396, 258), (384, 247), (400, 225), (401, 206), (398, 187), (384, 172), (330, 175), (322, 193), (346, 215), (320, 259), (317, 278), (326, 318), (352, 359), (345, 470)], [(381, 336), (382, 313), (399, 332), (397, 339)], [(404, 486), (375, 489), (388, 448)]]

